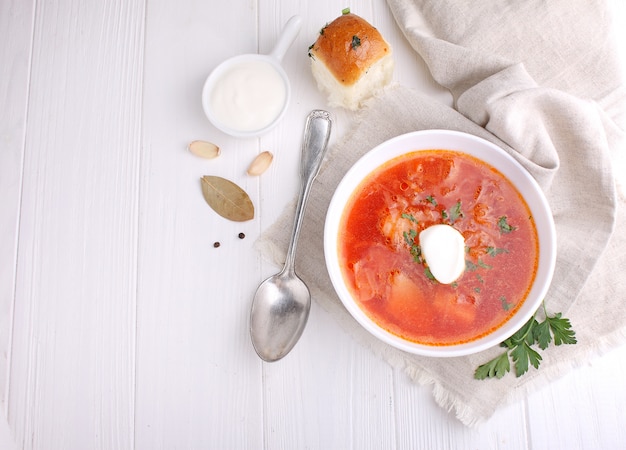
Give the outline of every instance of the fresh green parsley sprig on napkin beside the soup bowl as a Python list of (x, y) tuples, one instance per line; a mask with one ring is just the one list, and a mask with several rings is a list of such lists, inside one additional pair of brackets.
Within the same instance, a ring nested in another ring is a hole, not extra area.
[(562, 317), (561, 313), (549, 316), (545, 303), (543, 311), (546, 316), (543, 322), (538, 322), (536, 314), (533, 315), (513, 336), (500, 344), (506, 348), (502, 354), (478, 366), (474, 378), (502, 378), (511, 371), (511, 361), (515, 365), (515, 376), (521, 377), (528, 372), (530, 365), (538, 369), (541, 364), (541, 355), (533, 348), (535, 345), (545, 350), (553, 339), (554, 345), (576, 344), (576, 333), (569, 319)]

